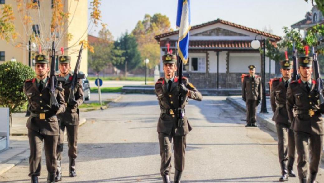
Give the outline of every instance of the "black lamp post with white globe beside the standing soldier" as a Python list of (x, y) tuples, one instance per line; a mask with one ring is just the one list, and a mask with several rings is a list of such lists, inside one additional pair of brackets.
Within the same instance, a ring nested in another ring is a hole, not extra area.
[(261, 61), (261, 86), (262, 86), (262, 101), (261, 101), (261, 111), (260, 113), (268, 113), (267, 111), (267, 101), (265, 96), (265, 38), (260, 34), (255, 36), (255, 39), (251, 42), (251, 46), (253, 49), (259, 49), (260, 42), (257, 40), (257, 36), (261, 37), (263, 42), (263, 53), (262, 53), (262, 61)]

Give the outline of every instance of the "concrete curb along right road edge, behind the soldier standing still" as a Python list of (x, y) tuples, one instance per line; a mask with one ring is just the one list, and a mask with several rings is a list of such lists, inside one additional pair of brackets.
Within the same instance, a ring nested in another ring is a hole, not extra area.
[[(227, 97), (226, 101), (232, 104), (234, 107), (239, 109), (240, 111), (246, 112), (246, 106), (242, 105), (241, 103), (238, 103), (235, 101), (235, 99), (231, 97)], [(276, 123), (272, 121), (271, 119), (266, 118), (264, 115), (257, 113), (257, 121), (265, 126), (266, 128), (270, 129), (271, 131), (277, 133), (276, 129)]]

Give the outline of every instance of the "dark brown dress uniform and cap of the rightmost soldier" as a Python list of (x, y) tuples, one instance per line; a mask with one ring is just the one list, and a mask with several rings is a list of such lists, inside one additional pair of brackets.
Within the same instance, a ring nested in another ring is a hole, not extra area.
[[(311, 57), (299, 57), (298, 64), (303, 67), (312, 67)], [(295, 132), (297, 150), (297, 170), (300, 182), (307, 179), (309, 168), (309, 182), (315, 182), (323, 149), (324, 125), (320, 107), (319, 95), (316, 90), (316, 81), (292, 81), (287, 89), (287, 111), (291, 129)], [(295, 109), (295, 110), (294, 110)], [(310, 152), (308, 152), (308, 148)], [(308, 153), (310, 162), (308, 164)]]

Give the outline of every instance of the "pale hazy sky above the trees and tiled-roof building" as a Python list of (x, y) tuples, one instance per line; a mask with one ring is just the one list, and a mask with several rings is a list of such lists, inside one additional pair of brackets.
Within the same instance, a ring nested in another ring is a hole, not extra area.
[[(90, 2), (91, 0), (88, 0)], [(102, 22), (117, 39), (126, 30), (131, 32), (145, 14), (161, 13), (176, 27), (178, 0), (101, 0)], [(282, 36), (283, 26), (305, 18), (311, 3), (304, 0), (191, 0), (191, 26), (221, 18), (223, 20), (263, 30), (272, 29)], [(89, 10), (90, 12), (90, 10)], [(93, 27), (89, 34), (97, 36), (100, 27)]]

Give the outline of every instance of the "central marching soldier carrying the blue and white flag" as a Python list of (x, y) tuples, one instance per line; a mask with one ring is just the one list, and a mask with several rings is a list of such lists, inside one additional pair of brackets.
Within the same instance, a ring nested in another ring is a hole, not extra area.
[(203, 96), (188, 81), (182, 77), (181, 87), (178, 87), (179, 78), (175, 76), (177, 70), (176, 55), (166, 54), (162, 56), (163, 70), (165, 77), (161, 77), (155, 84), (155, 93), (160, 105), (161, 114), (157, 122), (157, 132), (160, 144), (161, 155), (161, 175), (163, 182), (170, 182), (171, 170), (171, 141), (173, 138), (173, 149), (175, 158), (175, 175), (174, 182), (179, 183), (181, 173), (184, 169), (186, 135), (191, 130), (191, 126), (186, 115), (183, 116), (183, 125), (178, 127), (178, 95), (181, 92), (183, 97), (182, 107), (188, 103), (188, 98), (201, 101)]

